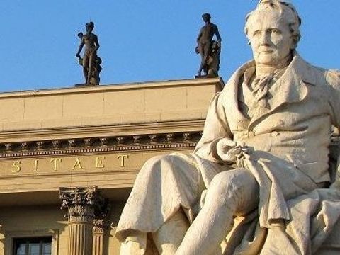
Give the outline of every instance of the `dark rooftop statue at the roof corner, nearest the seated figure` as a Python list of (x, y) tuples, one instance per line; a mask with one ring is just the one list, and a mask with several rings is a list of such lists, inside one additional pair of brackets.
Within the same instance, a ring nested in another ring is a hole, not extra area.
[[(217, 77), (218, 69), (220, 69), (220, 50), (221, 36), (215, 24), (210, 22), (211, 16), (209, 13), (202, 15), (205, 25), (200, 28), (200, 33), (197, 37), (196, 53), (200, 54), (201, 62), (198, 69), (197, 77), (200, 77), (202, 71), (205, 75)], [(217, 41), (212, 40), (216, 35)]]

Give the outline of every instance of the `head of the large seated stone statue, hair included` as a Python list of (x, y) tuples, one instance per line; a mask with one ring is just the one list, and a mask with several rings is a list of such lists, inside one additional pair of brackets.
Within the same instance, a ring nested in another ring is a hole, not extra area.
[(244, 32), (256, 64), (277, 65), (292, 54), (300, 40), (301, 19), (292, 4), (261, 0), (246, 16)]

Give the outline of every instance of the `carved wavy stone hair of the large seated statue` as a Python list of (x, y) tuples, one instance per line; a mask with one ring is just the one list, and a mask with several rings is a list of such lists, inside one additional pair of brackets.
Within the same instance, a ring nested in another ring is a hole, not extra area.
[(283, 13), (288, 14), (286, 15), (288, 17), (286, 18), (286, 20), (290, 28), (290, 33), (292, 33), (293, 37), (295, 38), (295, 45), (297, 45), (297, 42), (299, 42), (301, 38), (301, 18), (293, 4), (290, 4), (284, 0), (260, 0), (259, 4), (257, 4), (257, 8), (254, 11), (251, 11), (251, 13), (246, 16), (244, 33), (246, 33), (247, 36), (249, 18), (256, 14), (258, 11), (278, 11), (281, 16), (283, 16)]

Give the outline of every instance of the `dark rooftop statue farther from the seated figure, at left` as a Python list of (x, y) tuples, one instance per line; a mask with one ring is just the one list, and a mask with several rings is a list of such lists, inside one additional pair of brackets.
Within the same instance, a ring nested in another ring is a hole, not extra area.
[[(98, 37), (92, 31), (94, 30), (94, 23), (91, 21), (86, 23), (86, 34), (78, 33), (81, 40), (77, 57), (79, 64), (83, 66), (83, 72), (85, 77), (85, 85), (98, 85), (100, 82), (99, 74), (101, 72), (101, 58), (97, 55), (99, 48)], [(84, 57), (80, 56), (80, 52), (84, 50)]]

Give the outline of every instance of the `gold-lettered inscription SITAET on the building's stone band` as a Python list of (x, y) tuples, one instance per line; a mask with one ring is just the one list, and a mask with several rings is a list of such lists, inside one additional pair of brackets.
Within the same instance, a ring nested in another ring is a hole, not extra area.
[(122, 170), (130, 166), (130, 154), (85, 155), (16, 159), (0, 162), (0, 172), (6, 174), (39, 174), (69, 171)]

